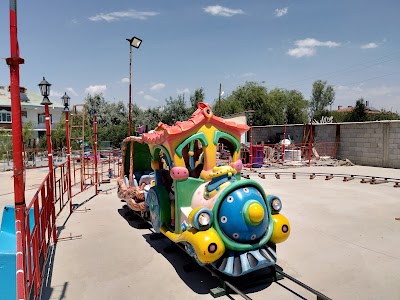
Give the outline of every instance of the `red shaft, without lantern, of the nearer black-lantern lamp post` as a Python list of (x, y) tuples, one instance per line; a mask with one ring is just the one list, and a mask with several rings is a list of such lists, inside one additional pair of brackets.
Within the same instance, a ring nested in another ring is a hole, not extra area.
[(51, 203), (51, 219), (53, 223), (53, 241), (57, 243), (57, 232), (56, 232), (56, 216), (55, 216), (55, 203), (54, 203), (54, 169), (53, 169), (53, 150), (51, 144), (51, 127), (50, 127), (50, 113), (49, 105), (44, 105), (44, 114), (46, 119), (46, 139), (47, 139), (47, 157), (49, 160), (49, 179), (50, 179), (50, 193), (49, 201)]

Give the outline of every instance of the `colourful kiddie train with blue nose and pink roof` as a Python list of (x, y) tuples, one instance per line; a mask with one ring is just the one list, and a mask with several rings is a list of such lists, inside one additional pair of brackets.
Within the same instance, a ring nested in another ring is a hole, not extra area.
[[(248, 129), (199, 103), (188, 121), (125, 139), (118, 181), (120, 198), (148, 211), (156, 232), (229, 276), (274, 266), (276, 244), (290, 234), (279, 197), (240, 176), (240, 136)], [(218, 163), (220, 148), (229, 149), (229, 161)], [(142, 187), (132, 187), (134, 179)], [(142, 191), (145, 201), (135, 198)]]

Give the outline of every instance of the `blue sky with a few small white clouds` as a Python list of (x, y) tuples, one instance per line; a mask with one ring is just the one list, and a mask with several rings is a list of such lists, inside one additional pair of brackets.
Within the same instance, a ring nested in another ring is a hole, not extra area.
[[(107, 101), (162, 106), (203, 87), (207, 102), (246, 81), (296, 89), (306, 99), (315, 80), (335, 86), (338, 105), (363, 97), (400, 112), (400, 2), (304, 1), (18, 1), (21, 85), (73, 104), (88, 93)], [(9, 3), (0, 3), (0, 85), (9, 84)]]

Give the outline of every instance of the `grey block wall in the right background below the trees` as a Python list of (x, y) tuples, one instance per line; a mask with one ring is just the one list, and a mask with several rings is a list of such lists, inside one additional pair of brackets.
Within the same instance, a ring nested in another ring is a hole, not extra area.
[[(337, 127), (339, 127), (337, 129)], [(348, 158), (365, 166), (400, 168), (400, 121), (315, 124), (317, 142), (335, 142), (340, 132), (338, 158)], [(277, 142), (283, 136), (283, 125), (253, 127), (253, 142)], [(301, 143), (304, 125), (287, 125), (286, 132)]]

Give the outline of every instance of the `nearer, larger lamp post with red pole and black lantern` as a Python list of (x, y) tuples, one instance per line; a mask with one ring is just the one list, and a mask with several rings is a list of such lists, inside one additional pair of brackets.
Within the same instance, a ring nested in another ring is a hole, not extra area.
[[(38, 84), (40, 93), (43, 96), (43, 100), (40, 103), (44, 105), (44, 113), (46, 119), (46, 136), (47, 136), (47, 157), (49, 160), (49, 177), (50, 177), (50, 187), (49, 187), (49, 200), (50, 205), (48, 206), (51, 211), (52, 222), (55, 224), (56, 216), (55, 216), (55, 207), (54, 207), (54, 170), (53, 170), (53, 153), (52, 153), (52, 145), (51, 145), (51, 128), (50, 128), (50, 113), (49, 113), (49, 105), (51, 103), (48, 96), (50, 95), (50, 86), (51, 84), (44, 79)], [(57, 243), (57, 234), (56, 234), (56, 226), (53, 226), (53, 241)]]

